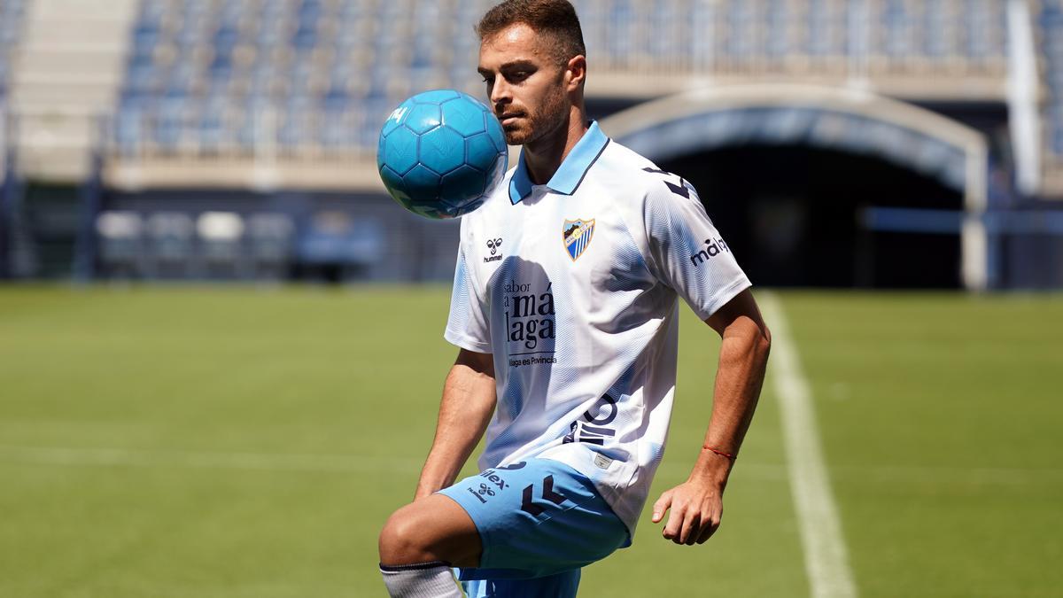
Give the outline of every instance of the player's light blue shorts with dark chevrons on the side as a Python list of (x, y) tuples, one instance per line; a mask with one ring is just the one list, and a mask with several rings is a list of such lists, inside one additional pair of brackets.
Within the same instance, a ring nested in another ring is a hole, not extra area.
[[(459, 570), (462, 582), (546, 578), (533, 583), (571, 586), (574, 595), (580, 567), (630, 544), (627, 528), (594, 484), (559, 461), (529, 459), (487, 469), (439, 494), (469, 513), (483, 544), (479, 566)], [(467, 585), (469, 595), (482, 586)]]

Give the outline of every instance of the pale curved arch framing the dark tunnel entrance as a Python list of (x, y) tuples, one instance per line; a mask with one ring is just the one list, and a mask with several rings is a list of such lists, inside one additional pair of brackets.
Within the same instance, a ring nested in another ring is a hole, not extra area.
[(962, 197), (963, 287), (988, 284), (988, 143), (976, 129), (863, 89), (793, 84), (728, 85), (645, 102), (604, 118), (619, 143), (661, 163), (727, 148), (807, 146), (877, 157)]

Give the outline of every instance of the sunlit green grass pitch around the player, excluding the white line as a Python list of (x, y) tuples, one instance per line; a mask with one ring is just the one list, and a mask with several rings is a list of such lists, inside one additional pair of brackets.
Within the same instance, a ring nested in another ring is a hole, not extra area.
[[(455, 349), (442, 287), (0, 287), (0, 596), (381, 596)], [(862, 597), (1060, 596), (1063, 300), (784, 293)], [(719, 339), (684, 309), (651, 501)], [(769, 322), (771, 323), (771, 322)], [(644, 517), (581, 596), (805, 596), (771, 383), (708, 544)]]

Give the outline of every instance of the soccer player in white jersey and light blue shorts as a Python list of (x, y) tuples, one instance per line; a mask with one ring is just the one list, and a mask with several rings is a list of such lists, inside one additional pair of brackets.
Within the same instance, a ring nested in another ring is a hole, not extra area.
[[(479, 72), (521, 159), (461, 220), (444, 336), (459, 348), (414, 502), (379, 537), (391, 596), (574, 596), (628, 546), (675, 391), (678, 298), (723, 337), (689, 479), (663, 536), (701, 544), (753, 418), (771, 344), (749, 281), (685, 180), (610, 140), (584, 107), (566, 0), (508, 0), (476, 28)], [(706, 393), (707, 394), (707, 393)], [(484, 432), (482, 471), (455, 483)]]

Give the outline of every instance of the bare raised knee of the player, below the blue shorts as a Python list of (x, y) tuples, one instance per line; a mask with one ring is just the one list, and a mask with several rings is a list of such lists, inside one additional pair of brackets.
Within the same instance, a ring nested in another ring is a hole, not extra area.
[(381, 563), (410, 565), (445, 561), (456, 566), (479, 562), (479, 534), (469, 515), (445, 497), (429, 497), (395, 511), (379, 537)]

